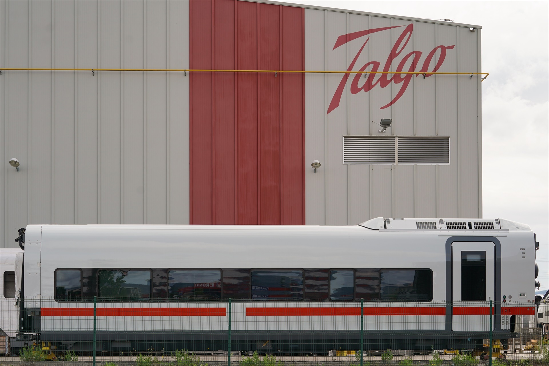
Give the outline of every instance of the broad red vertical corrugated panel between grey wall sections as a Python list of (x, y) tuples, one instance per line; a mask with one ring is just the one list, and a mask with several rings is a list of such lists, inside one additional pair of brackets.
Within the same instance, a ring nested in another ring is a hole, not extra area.
[[(191, 1), (191, 68), (302, 70), (302, 8)], [(304, 224), (302, 74), (191, 73), (191, 223)]]

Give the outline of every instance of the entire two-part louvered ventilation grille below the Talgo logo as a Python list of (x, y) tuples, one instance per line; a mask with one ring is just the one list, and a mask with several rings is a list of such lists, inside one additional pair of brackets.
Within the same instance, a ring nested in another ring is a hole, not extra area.
[(450, 164), (450, 138), (344, 136), (343, 164)]

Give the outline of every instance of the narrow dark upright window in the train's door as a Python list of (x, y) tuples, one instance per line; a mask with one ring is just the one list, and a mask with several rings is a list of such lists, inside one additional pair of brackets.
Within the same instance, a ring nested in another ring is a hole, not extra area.
[(486, 252), (461, 252), (461, 300), (486, 300)]

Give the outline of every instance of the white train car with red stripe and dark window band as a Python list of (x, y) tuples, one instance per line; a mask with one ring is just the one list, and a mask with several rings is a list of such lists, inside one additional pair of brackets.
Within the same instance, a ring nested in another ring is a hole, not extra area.
[(0, 318), (24, 320), (4, 331), (77, 350), (91, 347), (93, 296), (98, 350), (223, 349), (228, 298), (233, 351), (355, 344), (360, 299), (378, 349), (481, 347), (489, 300), (495, 338), (514, 336), (514, 316), (535, 314), (534, 233), (505, 219), (29, 225), (21, 241), (23, 315), (4, 307)]

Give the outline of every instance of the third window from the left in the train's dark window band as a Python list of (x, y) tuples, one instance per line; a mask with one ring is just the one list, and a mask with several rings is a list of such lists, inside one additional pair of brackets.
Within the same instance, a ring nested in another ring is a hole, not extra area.
[(217, 269), (175, 269), (168, 271), (170, 299), (220, 299), (221, 271)]

